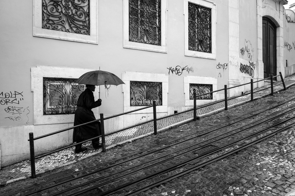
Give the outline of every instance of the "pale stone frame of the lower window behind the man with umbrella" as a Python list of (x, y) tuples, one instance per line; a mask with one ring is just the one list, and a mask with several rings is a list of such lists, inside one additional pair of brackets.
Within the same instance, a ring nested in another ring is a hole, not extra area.
[[(37, 66), (31, 67), (31, 91), (33, 93), (34, 109), (33, 122), (36, 124), (73, 123), (74, 114), (43, 115), (43, 77), (79, 78), (86, 72), (95, 69), (81, 69), (71, 67)], [(94, 92), (94, 98), (99, 97), (99, 87)], [(92, 109), (98, 115), (98, 107)]]

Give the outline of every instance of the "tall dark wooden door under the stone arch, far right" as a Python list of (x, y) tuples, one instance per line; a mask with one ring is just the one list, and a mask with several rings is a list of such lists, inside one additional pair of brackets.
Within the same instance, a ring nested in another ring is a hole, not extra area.
[(276, 26), (262, 17), (262, 58), (264, 78), (276, 75)]

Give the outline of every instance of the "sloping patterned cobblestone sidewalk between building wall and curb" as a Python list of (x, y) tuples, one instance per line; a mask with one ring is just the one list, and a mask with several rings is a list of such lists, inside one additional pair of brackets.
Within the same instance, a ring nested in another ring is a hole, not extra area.
[[(287, 77), (284, 79), (286, 87), (295, 84), (295, 75)], [(269, 87), (267, 85), (263, 88)], [(261, 88), (262, 89), (262, 88)], [(274, 87), (274, 92), (278, 92), (283, 89), (283, 85), (279, 85)], [(255, 90), (260, 90), (255, 89)], [(254, 98), (258, 99), (264, 97), (271, 93), (271, 89), (262, 90), (254, 94)], [(228, 108), (235, 107), (237, 105), (246, 103), (250, 101), (250, 94), (245, 95), (236, 99), (232, 99), (228, 101)], [(214, 104), (208, 107), (204, 107), (197, 110), (197, 115), (202, 118), (205, 116), (212, 115), (214, 113), (220, 112), (224, 110), (224, 102)], [(178, 114), (172, 117), (168, 117), (165, 119), (161, 119), (157, 121), (157, 129), (169, 129), (173, 124), (184, 124), (186, 122), (191, 121), (193, 118), (193, 111)], [(170, 127), (169, 127), (170, 126)], [(134, 127), (116, 134), (112, 134), (106, 137), (106, 147), (112, 148), (116, 146), (116, 144), (128, 142), (132, 139), (136, 139), (139, 137), (146, 137), (149, 134), (153, 134), (153, 122), (143, 124), (138, 127)], [(69, 148), (58, 153), (54, 153), (52, 155), (42, 157), (35, 161), (36, 172), (43, 173), (48, 170), (53, 170), (58, 167), (62, 167), (67, 164), (71, 164), (76, 162), (77, 160), (81, 160), (85, 157), (89, 157), (91, 155), (97, 154), (101, 152), (101, 150), (94, 150), (92, 148), (91, 142), (86, 142), (83, 146), (89, 147), (87, 151), (81, 152), (78, 154), (74, 153), (73, 148)], [(30, 177), (31, 167), (30, 161), (19, 162), (14, 165), (10, 165), (2, 168), (0, 170), (0, 185), (5, 185), (6, 183), (14, 182), (21, 179), (26, 179)]]

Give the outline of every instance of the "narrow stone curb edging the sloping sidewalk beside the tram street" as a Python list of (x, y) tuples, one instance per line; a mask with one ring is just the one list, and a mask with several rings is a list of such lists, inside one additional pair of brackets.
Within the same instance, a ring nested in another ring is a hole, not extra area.
[[(295, 82), (286, 85), (286, 89), (289, 88), (289, 87), (291, 87), (291, 86), (293, 86), (294, 84), (295, 84)], [(279, 91), (283, 91), (283, 88), (278, 89), (278, 90), (274, 91), (273, 93), (277, 93), (277, 92), (279, 92)], [(271, 93), (266, 93), (266, 94), (263, 94), (263, 95), (261, 95), (261, 96), (254, 97), (253, 99), (254, 99), (254, 100), (256, 100), (256, 99), (261, 99), (261, 98), (266, 97), (266, 96), (268, 96), (268, 95), (270, 95), (270, 94), (271, 94)], [(245, 100), (245, 101), (242, 101), (242, 102), (236, 103), (236, 104), (232, 104), (232, 105), (228, 106), (227, 109), (230, 109), (230, 108), (233, 108), (233, 107), (240, 106), (240, 105), (245, 104), (245, 103), (250, 102), (250, 101), (251, 101), (251, 99), (248, 99), (248, 100)], [(222, 108), (219, 108), (219, 109), (213, 110), (213, 111), (211, 111), (211, 112), (208, 112), (208, 113), (206, 113), (206, 114), (201, 114), (201, 115), (197, 116), (197, 119), (198, 119), (198, 118), (201, 119), (201, 118), (205, 118), (205, 117), (211, 116), (211, 115), (213, 115), (213, 114), (217, 114), (218, 112), (224, 111), (224, 109), (225, 109), (225, 108), (222, 107)], [(167, 126), (167, 127), (163, 127), (163, 128), (161, 128), (161, 129), (158, 129), (158, 130), (157, 130), (157, 133), (167, 131), (168, 129), (172, 129), (172, 128), (178, 127), (178, 126), (180, 126), (180, 125), (182, 125), (182, 124), (186, 124), (186, 123), (188, 123), (188, 122), (193, 121), (193, 119), (194, 119), (194, 118), (189, 118), (189, 119), (183, 120), (183, 121), (181, 121), (181, 122), (177, 122), (177, 123), (171, 124), (171, 125), (169, 125), (169, 126)], [(127, 139), (127, 140), (125, 140), (125, 141), (123, 141), (123, 142), (119, 142), (119, 143), (117, 143), (117, 144), (113, 144), (113, 145), (111, 145), (111, 146), (106, 147), (106, 150), (108, 150), (108, 149), (112, 149), (112, 148), (117, 147), (117, 146), (121, 146), (121, 145), (126, 144), (126, 143), (132, 143), (133, 141), (135, 141), (135, 140), (137, 140), (137, 139), (144, 138), (144, 137), (148, 137), (148, 136), (153, 135), (153, 134), (154, 134), (154, 132), (149, 132), (149, 133), (146, 133), (146, 134), (143, 134), (143, 135), (140, 135), (140, 136), (137, 136), (137, 137), (131, 138), (131, 139)], [(67, 163), (64, 163), (64, 164), (61, 164), (61, 165), (57, 165), (57, 166), (55, 166), (55, 167), (50, 167), (50, 168), (45, 169), (45, 170), (40, 170), (39, 172), (36, 172), (36, 176), (40, 176), (41, 174), (44, 174), (44, 173), (47, 173), (47, 172), (51, 172), (51, 171), (53, 171), (53, 170), (55, 170), (55, 169), (58, 169), (58, 168), (60, 168), (60, 167), (65, 167), (65, 166), (67, 166), (67, 165), (74, 164), (74, 163), (76, 163), (77, 161), (81, 161), (81, 160), (83, 160), (83, 159), (89, 158), (89, 157), (91, 157), (91, 156), (93, 156), (93, 155), (96, 155), (96, 154), (98, 154), (98, 153), (101, 153), (101, 151), (102, 151), (102, 150), (96, 151), (96, 152), (91, 153), (91, 154), (89, 154), (89, 155), (87, 155), (87, 156), (85, 156), (85, 157), (81, 157), (81, 158), (79, 158), (79, 159), (77, 159), (77, 160), (74, 160), (74, 161), (71, 161), (71, 162), (67, 162)], [(20, 181), (20, 180), (25, 180), (25, 179), (30, 178), (30, 177), (31, 177), (31, 175), (27, 175), (27, 176), (23, 176), (23, 177), (15, 178), (15, 179), (12, 179), (12, 180), (2, 181), (2, 182), (0, 182), (0, 186), (5, 186), (5, 185), (10, 184), (10, 183), (12, 183), (12, 182), (17, 182), (17, 181)]]

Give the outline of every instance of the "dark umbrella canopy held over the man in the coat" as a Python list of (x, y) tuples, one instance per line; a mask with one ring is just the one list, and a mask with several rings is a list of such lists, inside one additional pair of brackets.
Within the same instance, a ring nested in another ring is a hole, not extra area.
[(110, 72), (96, 70), (87, 72), (80, 76), (76, 81), (77, 84), (92, 84), (99, 85), (119, 85), (125, 84), (118, 76)]

